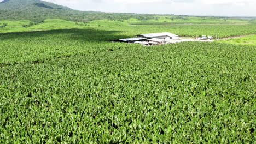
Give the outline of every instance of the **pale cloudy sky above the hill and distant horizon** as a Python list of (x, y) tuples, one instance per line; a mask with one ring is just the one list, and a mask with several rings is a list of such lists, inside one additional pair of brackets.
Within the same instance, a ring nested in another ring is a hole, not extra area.
[(118, 13), (256, 16), (256, 0), (45, 0), (78, 10)]

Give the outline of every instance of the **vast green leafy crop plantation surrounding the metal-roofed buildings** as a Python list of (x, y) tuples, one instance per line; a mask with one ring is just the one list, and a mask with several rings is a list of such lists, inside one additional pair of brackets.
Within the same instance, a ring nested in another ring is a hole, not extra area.
[(255, 25), (0, 34), (0, 143), (253, 143), (255, 46), (108, 42), (157, 31), (226, 36)]

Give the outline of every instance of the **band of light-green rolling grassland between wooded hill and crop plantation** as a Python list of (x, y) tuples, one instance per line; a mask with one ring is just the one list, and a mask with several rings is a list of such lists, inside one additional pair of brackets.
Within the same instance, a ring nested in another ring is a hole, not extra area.
[[(156, 19), (157, 18), (157, 19)], [(234, 31), (244, 31), (241, 34), (246, 34), (248, 33), (248, 31), (253, 31), (255, 32), (255, 23), (251, 23), (251, 25), (247, 25), (249, 24), (249, 20), (247, 21), (243, 21), (243, 20), (224, 20), (224, 19), (213, 19), (211, 20), (209, 17), (206, 18), (200, 18), (199, 17), (190, 17), (187, 18), (187, 22), (183, 19), (178, 19), (176, 22), (171, 22), (172, 18), (166, 18), (166, 17), (155, 17), (155, 19), (152, 20), (138, 20), (138, 19), (128, 19), (128, 20), (95, 20), (95, 21), (90, 21), (90, 22), (74, 22), (74, 21), (66, 21), (66, 20), (62, 20), (62, 19), (46, 19), (44, 20), (42, 23), (37, 23), (35, 24), (33, 21), (30, 20), (21, 20), (21, 21), (8, 21), (8, 20), (2, 20), (0, 21), (0, 33), (7, 33), (7, 32), (26, 32), (26, 31), (39, 31), (39, 30), (51, 30), (51, 29), (67, 29), (67, 28), (95, 28), (95, 27), (113, 27), (114, 29), (116, 29), (115, 27), (118, 27), (119, 29), (129, 29), (130, 28), (127, 26), (134, 26), (133, 28), (137, 28), (139, 27), (139, 29), (147, 29), (148, 27), (150, 27), (150, 29), (152, 29), (152, 27), (154, 27), (154, 29), (159, 28), (159, 31), (161, 31), (161, 29), (165, 28), (167, 30), (171, 30), (173, 31), (173, 29), (178, 30), (178, 32), (181, 31), (188, 31), (188, 29), (190, 29), (189, 25), (178, 25), (176, 23), (182, 23), (182, 24), (188, 24), (191, 23), (195, 26), (192, 26), (191, 29), (195, 29), (194, 27), (197, 27), (197, 31), (206, 31), (208, 32), (208, 28), (205, 29), (206, 25), (203, 24), (207, 24), (208, 25), (212, 25), (214, 24), (214, 26), (209, 26), (210, 27), (210, 31), (211, 29), (214, 29), (215, 27), (217, 27), (217, 32), (219, 31), (219, 29), (223, 29), (225, 32), (231, 32), (230, 29), (234, 28)], [(190, 20), (191, 19), (191, 20)], [(194, 20), (195, 19), (195, 20)], [(223, 22), (223, 21), (224, 22)], [(136, 24), (137, 23), (137, 24)], [(218, 23), (221, 23), (223, 26), (221, 25), (216, 25)], [(3, 25), (6, 25), (4, 27), (1, 27)], [(155, 24), (155, 25), (152, 25)], [(200, 25), (197, 25), (200, 24)], [(233, 26), (233, 25), (237, 25), (237, 26)], [(142, 26), (137, 26), (137, 25), (142, 25)], [(147, 26), (149, 25), (149, 26)], [(161, 25), (161, 26), (158, 26)], [(170, 25), (167, 27), (164, 27), (162, 25)], [(197, 25), (197, 26), (196, 26)], [(202, 26), (202, 28), (201, 28)], [(249, 26), (249, 27), (248, 27)], [(253, 27), (252, 27), (253, 26)], [(183, 28), (184, 27), (184, 28)], [(225, 30), (226, 28), (228, 28), (227, 30)], [(233, 32), (234, 33), (234, 32)], [(214, 35), (216, 33), (213, 33)], [(217, 33), (218, 34), (218, 33)], [(199, 34), (201, 35), (201, 34)]]

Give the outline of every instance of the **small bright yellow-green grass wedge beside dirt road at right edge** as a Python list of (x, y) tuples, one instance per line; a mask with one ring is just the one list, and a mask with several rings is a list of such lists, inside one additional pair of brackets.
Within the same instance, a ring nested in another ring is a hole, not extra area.
[(256, 34), (245, 37), (231, 38), (228, 40), (219, 40), (218, 43), (238, 44), (238, 45), (256, 45)]

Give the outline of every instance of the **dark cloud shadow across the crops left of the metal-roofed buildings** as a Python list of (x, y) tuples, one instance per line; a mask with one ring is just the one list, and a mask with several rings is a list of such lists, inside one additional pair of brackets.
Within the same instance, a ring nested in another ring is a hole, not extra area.
[[(43, 38), (43, 40), (83, 40), (83, 41), (109, 41), (127, 38), (127, 35), (118, 35), (121, 31), (106, 31), (92, 28), (86, 29), (58, 29), (49, 31), (13, 32), (0, 34), (1, 40)], [(39, 39), (40, 40), (40, 39)]]

